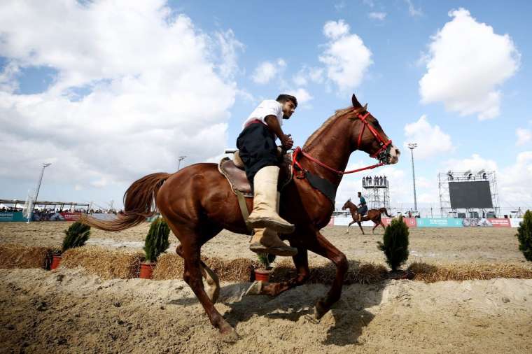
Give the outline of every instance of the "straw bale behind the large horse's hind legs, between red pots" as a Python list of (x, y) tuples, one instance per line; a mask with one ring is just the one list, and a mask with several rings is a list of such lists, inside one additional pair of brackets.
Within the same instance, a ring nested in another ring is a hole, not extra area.
[[(220, 281), (244, 282), (249, 281), (253, 262), (247, 258), (236, 260), (221, 260), (218, 257), (202, 259), (207, 267), (212, 269)], [(179, 255), (162, 255), (158, 258), (157, 265), (153, 269), (154, 280), (183, 279), (184, 264)]]

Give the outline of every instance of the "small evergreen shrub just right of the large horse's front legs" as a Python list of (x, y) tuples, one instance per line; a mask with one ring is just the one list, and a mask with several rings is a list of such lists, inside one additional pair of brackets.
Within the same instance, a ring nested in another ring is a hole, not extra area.
[(408, 234), (408, 226), (402, 220), (402, 216), (394, 218), (386, 227), (384, 242), (379, 242), (377, 246), (386, 255), (386, 263), (392, 271), (396, 271), (408, 259)]

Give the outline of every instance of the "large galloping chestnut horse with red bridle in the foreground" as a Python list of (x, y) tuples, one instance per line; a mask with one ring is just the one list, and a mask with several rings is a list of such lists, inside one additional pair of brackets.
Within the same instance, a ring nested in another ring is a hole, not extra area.
[[(378, 157), (384, 164), (395, 164), (399, 160), (400, 151), (389, 141), (377, 119), (367, 112), (367, 104), (362, 106), (354, 94), (351, 101), (353, 106), (336, 111), (310, 136), (302, 148), (307, 155), (300, 156), (298, 161), (302, 169), (328, 180), (335, 187), (342, 180), (342, 173), (338, 171), (345, 170), (349, 156), (355, 150)], [(253, 199), (246, 199), (246, 203), (251, 210)], [(328, 225), (335, 206), (325, 194), (311, 187), (306, 178), (294, 178), (288, 183), (281, 194), (280, 204), (281, 217), (295, 225), (293, 234), (279, 236), (297, 248), (297, 255), (293, 256), (297, 275), (289, 281), (262, 284), (258, 291), (275, 296), (302, 285), (309, 277), (307, 250), (322, 255), (336, 265), (337, 271), (328, 294), (316, 303), (315, 317), (319, 319), (338, 301), (348, 269), (344, 253), (320, 233), (320, 229)], [(125, 211), (116, 220), (90, 217), (82, 220), (99, 229), (120, 231), (144, 222), (155, 213), (155, 208), (159, 209), (181, 243), (176, 253), (184, 259), (183, 280), (192, 288), (211, 324), (226, 340), (237, 339), (235, 330), (214, 307), (219, 290), (218, 278), (200, 260), (202, 245), (222, 229), (248, 234), (237, 196), (218, 171), (218, 165), (193, 164), (174, 174), (144, 176), (125, 192)], [(202, 276), (207, 280), (207, 289)]]

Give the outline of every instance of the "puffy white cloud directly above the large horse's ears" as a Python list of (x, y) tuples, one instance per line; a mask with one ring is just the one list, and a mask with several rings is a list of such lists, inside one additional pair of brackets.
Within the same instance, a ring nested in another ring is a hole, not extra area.
[(325, 23), (323, 34), (330, 41), (319, 60), (326, 66), (328, 79), (338, 86), (340, 92), (352, 90), (360, 85), (372, 64), (372, 52), (359, 36), (349, 33), (349, 24), (344, 20)]

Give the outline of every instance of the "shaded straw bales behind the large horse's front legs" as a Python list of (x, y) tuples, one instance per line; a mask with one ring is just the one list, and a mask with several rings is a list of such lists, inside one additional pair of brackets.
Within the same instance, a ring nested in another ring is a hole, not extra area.
[[(387, 273), (382, 264), (363, 263), (349, 261), (349, 269), (344, 277), (344, 284), (370, 284), (378, 283)], [(295, 277), (295, 267), (290, 260), (282, 260), (272, 270), (270, 280), (272, 282), (288, 281)], [(335, 280), (336, 266), (324, 264), (318, 267), (310, 267), (309, 283), (331, 284)]]

